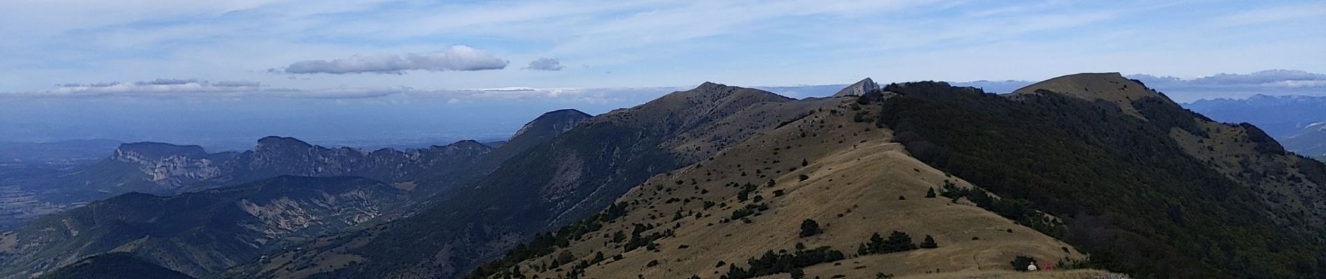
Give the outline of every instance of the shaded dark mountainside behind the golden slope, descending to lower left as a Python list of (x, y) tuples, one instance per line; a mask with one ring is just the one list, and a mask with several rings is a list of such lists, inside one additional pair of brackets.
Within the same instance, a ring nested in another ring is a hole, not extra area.
[[(237, 268), (260, 278), (455, 276), (530, 235), (607, 206), (650, 176), (794, 119), (825, 100), (705, 83), (615, 110), (505, 163), (415, 217)], [(720, 127), (725, 126), (725, 127)], [(687, 145), (691, 139), (707, 144)], [(363, 258), (347, 266), (346, 258)], [(329, 264), (337, 263), (337, 264)]]

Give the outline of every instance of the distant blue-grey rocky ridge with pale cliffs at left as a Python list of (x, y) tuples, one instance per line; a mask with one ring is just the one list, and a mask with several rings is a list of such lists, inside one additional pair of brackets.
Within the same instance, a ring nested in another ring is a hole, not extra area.
[[(408, 181), (446, 173), (448, 169), (483, 157), (492, 149), (473, 140), (461, 140), (420, 149), (383, 148), (369, 152), (347, 147), (325, 148), (294, 138), (278, 136), (263, 138), (252, 151), (241, 153), (207, 153), (198, 145), (129, 143), (122, 144), (110, 157), (110, 165), (103, 163), (102, 168), (113, 169), (115, 165), (137, 168), (142, 173), (142, 180), (154, 186), (115, 189), (115, 185), (88, 184), (113, 193), (139, 190), (170, 194), (281, 175), (363, 176), (382, 181)], [(127, 180), (127, 185), (131, 185), (135, 179)]]

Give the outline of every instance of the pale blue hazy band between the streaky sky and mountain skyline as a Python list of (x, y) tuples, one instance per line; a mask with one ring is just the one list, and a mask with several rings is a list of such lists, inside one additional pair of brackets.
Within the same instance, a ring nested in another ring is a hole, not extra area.
[[(1195, 79), (1130, 74), (1177, 102), (1252, 95), (1326, 95), (1326, 75), (1266, 70)], [(876, 82), (902, 82), (883, 81)], [(952, 82), (1009, 93), (1036, 81)], [(749, 86), (792, 98), (827, 97), (846, 86)], [(744, 86), (744, 85), (737, 85)], [(293, 136), (313, 144), (407, 148), (475, 139), (504, 140), (542, 112), (575, 108), (598, 115), (633, 107), (687, 86), (634, 89), (501, 89), (473, 91), (472, 99), (436, 93), (396, 93), (370, 98), (284, 95), (103, 94), (88, 97), (9, 95), (0, 103), (0, 141), (42, 143), (80, 139), (162, 141), (203, 145), (210, 151), (248, 149), (263, 136)], [(525, 94), (521, 98), (483, 94)], [(560, 94), (560, 95), (558, 95)], [(27, 122), (24, 122), (27, 120)]]

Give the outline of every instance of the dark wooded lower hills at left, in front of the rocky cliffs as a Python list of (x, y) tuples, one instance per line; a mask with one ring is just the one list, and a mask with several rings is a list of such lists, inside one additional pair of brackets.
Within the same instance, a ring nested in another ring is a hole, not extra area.
[(274, 245), (389, 214), (407, 192), (362, 177), (278, 176), (179, 196), (127, 193), (41, 217), (7, 238), (5, 278), (110, 251), (192, 276), (248, 262)]

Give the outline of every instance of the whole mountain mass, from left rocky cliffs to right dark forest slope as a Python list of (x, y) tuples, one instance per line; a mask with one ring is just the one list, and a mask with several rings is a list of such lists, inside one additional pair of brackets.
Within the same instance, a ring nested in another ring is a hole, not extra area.
[(705, 82), (499, 147), (125, 144), (62, 189), (162, 196), (0, 234), (0, 278), (98, 255), (195, 278), (1326, 275), (1326, 164), (1135, 78), (833, 91)]

